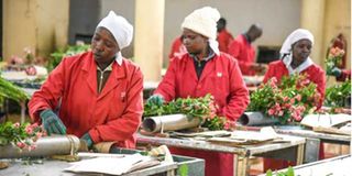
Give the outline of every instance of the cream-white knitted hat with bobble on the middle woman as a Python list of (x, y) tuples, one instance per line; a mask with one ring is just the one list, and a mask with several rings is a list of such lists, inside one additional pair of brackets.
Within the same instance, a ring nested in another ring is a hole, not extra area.
[(182, 24), (182, 29), (188, 29), (207, 36), (210, 47), (219, 55), (219, 43), (217, 42), (217, 22), (219, 19), (220, 13), (217, 9), (204, 7), (188, 14)]

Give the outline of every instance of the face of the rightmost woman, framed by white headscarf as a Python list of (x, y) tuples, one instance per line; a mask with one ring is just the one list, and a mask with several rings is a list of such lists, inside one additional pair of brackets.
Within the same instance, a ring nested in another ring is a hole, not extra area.
[(293, 44), (293, 55), (296, 62), (305, 62), (311, 52), (311, 42), (309, 40), (299, 40)]

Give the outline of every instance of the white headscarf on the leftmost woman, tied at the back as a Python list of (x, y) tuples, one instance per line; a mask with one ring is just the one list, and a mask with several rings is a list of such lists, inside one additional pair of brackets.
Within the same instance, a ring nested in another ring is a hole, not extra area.
[[(129, 46), (133, 37), (133, 26), (121, 15), (117, 15), (113, 11), (110, 11), (109, 14), (103, 18), (97, 29), (103, 26), (110, 31), (114, 40), (118, 42), (120, 51)], [(117, 53), (117, 62), (121, 65), (122, 55), (121, 52)]]

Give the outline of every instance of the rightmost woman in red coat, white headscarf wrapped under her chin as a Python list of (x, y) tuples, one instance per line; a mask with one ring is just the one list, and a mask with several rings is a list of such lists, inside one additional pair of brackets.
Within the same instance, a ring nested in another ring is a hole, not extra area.
[[(289, 76), (293, 74), (306, 74), (308, 79), (317, 85), (317, 89), (320, 94), (319, 109), (323, 102), (326, 91), (326, 73), (324, 70), (312, 63), (309, 57), (314, 45), (314, 35), (304, 29), (298, 29), (287, 36), (282, 48), (282, 59), (273, 62), (268, 65), (268, 70), (264, 76), (264, 82), (270, 78), (276, 77), (280, 81), (283, 76)], [(322, 144), (320, 144), (320, 156), (323, 155)], [(264, 172), (267, 169), (279, 169), (294, 165), (294, 163), (279, 161), (279, 160), (264, 160)]]

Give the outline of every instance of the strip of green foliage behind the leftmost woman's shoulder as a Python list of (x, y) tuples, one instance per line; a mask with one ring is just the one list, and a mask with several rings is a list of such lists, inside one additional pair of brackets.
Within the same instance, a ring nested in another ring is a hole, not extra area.
[(56, 52), (51, 54), (51, 58), (47, 63), (46, 68), (52, 72), (65, 56), (73, 56), (76, 54), (80, 54), (87, 52), (90, 48), (90, 45), (78, 44), (75, 46), (67, 46), (66, 48), (57, 50)]

